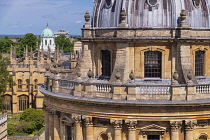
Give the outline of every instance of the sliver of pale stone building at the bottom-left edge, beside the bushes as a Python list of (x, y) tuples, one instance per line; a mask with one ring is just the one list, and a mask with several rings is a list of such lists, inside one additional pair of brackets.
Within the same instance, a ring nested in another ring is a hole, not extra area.
[(7, 115), (0, 114), (0, 140), (7, 140)]

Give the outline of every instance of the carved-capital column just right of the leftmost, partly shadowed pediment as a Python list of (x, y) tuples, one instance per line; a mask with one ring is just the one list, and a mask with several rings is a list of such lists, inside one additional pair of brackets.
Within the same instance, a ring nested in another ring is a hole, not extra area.
[[(72, 115), (73, 116), (73, 115)], [(75, 135), (76, 140), (83, 140), (83, 133), (82, 133), (82, 118), (80, 115), (73, 116), (75, 121)]]

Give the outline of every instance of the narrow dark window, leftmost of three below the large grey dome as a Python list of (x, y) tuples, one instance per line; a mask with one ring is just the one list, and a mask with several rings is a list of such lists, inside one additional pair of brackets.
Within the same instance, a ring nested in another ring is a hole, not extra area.
[(111, 52), (108, 50), (101, 51), (102, 75), (111, 76)]

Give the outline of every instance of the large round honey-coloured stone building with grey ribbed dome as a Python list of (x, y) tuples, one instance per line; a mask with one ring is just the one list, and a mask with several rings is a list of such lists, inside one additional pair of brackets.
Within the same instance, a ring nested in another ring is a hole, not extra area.
[(208, 140), (210, 1), (94, 2), (76, 69), (39, 88), (46, 140)]

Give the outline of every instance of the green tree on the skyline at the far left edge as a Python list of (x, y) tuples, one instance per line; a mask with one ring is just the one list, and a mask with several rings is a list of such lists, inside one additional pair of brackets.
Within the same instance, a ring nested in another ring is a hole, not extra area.
[(7, 36), (0, 39), (0, 52), (2, 53), (9, 53), (10, 52), (10, 46), (13, 45), (11, 39), (9, 39)]

